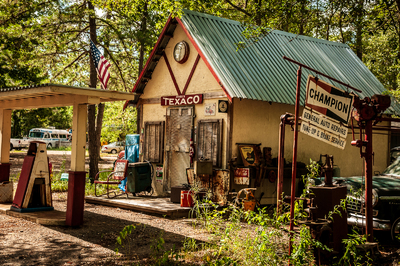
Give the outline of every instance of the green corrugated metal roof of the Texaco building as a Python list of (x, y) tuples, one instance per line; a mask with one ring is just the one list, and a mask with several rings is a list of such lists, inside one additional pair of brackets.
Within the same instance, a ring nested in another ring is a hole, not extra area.
[[(295, 104), (298, 66), (283, 56), (360, 89), (362, 93), (356, 93), (360, 98), (385, 91), (347, 44), (278, 30), (254, 43), (242, 36), (245, 28), (237, 21), (189, 10), (184, 10), (181, 20), (232, 98)], [(244, 42), (246, 48), (236, 51), (239, 42)], [(309, 74), (315, 76), (303, 68), (302, 104)], [(351, 91), (324, 77), (321, 79)], [(392, 104), (390, 111), (400, 114), (399, 105)]]

